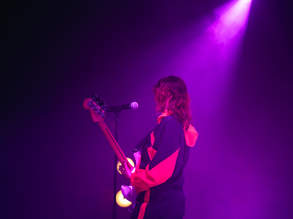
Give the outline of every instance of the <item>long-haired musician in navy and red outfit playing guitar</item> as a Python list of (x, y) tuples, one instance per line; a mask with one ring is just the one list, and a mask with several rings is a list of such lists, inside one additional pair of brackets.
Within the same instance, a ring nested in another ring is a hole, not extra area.
[(153, 87), (156, 127), (136, 146), (141, 158), (134, 173), (120, 166), (138, 194), (131, 218), (183, 218), (184, 168), (198, 133), (190, 124), (190, 98), (184, 81), (169, 76)]

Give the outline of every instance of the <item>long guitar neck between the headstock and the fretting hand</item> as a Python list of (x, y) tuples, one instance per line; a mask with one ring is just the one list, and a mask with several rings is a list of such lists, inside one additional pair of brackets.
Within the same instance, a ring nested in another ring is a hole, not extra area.
[(125, 154), (122, 152), (121, 148), (119, 147), (117, 141), (115, 140), (115, 138), (113, 137), (113, 135), (110, 132), (109, 128), (105, 124), (104, 120), (98, 121), (98, 124), (99, 124), (100, 128), (102, 129), (104, 135), (106, 136), (108, 142), (110, 143), (110, 145), (111, 145), (113, 151), (115, 152), (115, 154), (116, 154), (118, 160), (120, 161), (120, 163), (123, 164), (123, 161), (125, 160), (128, 168), (130, 168), (130, 170), (132, 170), (134, 167), (127, 160)]

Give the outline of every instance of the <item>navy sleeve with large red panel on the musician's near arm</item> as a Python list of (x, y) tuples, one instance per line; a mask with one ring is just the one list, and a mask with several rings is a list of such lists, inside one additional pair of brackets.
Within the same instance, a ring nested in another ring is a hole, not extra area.
[(145, 169), (141, 168), (141, 158), (131, 174), (131, 185), (137, 193), (164, 183), (173, 175), (182, 132), (173, 117), (164, 120), (160, 128), (151, 133), (152, 146), (147, 148), (150, 163)]

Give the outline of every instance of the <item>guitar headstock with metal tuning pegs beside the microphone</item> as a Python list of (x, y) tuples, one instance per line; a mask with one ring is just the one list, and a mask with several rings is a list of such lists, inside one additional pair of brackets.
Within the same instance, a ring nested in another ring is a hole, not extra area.
[(91, 95), (91, 98), (86, 98), (83, 105), (85, 109), (90, 110), (94, 122), (103, 121), (106, 111), (109, 109), (108, 105), (102, 102), (96, 94)]

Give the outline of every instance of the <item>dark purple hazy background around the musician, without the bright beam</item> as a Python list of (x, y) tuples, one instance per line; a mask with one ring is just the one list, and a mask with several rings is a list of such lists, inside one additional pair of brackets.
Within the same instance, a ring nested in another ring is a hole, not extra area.
[[(119, 120), (133, 159), (156, 124), (152, 86), (178, 75), (199, 133), (185, 218), (293, 218), (291, 1), (252, 1), (220, 99), (197, 86), (202, 72), (164, 71), (225, 2), (1, 2), (0, 217), (112, 218), (114, 153), (82, 102), (97, 93), (110, 106), (139, 103)], [(114, 114), (105, 122), (114, 134)], [(117, 207), (117, 218), (129, 217)]]

